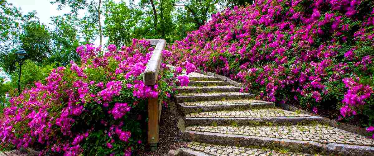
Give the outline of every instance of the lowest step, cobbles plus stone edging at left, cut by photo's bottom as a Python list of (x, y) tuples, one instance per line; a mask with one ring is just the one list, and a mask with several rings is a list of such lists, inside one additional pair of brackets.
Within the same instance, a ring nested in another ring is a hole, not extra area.
[(291, 153), (286, 150), (270, 150), (248, 147), (224, 146), (190, 142), (180, 149), (180, 156), (313, 156), (306, 153)]

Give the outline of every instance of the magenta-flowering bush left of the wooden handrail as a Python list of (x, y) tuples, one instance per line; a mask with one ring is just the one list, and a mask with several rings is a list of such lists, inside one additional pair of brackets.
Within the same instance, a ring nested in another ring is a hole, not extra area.
[[(1, 146), (33, 147), (41, 155), (136, 155), (146, 138), (146, 99), (174, 93), (175, 74), (165, 67), (154, 87), (142, 80), (154, 50), (145, 40), (77, 47), (81, 63), (53, 69), (46, 83), (10, 100), (0, 120)], [(168, 53), (165, 51), (164, 53)]]

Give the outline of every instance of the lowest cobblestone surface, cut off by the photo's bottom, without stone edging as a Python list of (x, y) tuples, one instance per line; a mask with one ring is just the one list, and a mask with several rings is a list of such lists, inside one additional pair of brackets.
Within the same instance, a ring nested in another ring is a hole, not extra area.
[(199, 142), (190, 142), (187, 147), (214, 156), (312, 156), (309, 154), (279, 153), (275, 150), (212, 145)]

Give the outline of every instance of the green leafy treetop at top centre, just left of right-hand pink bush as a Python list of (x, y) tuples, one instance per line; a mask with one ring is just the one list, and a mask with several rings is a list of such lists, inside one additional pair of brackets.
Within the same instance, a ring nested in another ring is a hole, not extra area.
[(218, 0), (181, 0), (184, 4), (188, 22), (196, 24), (197, 28), (204, 25), (208, 17), (217, 11), (215, 4)]

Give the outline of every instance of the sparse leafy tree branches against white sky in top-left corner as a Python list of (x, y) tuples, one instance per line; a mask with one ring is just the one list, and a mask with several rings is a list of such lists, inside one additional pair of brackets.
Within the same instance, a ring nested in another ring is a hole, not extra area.
[(20, 9), (7, 0), (0, 0), (0, 51), (7, 52), (19, 44), (21, 24), (34, 18), (35, 12), (22, 15)]

